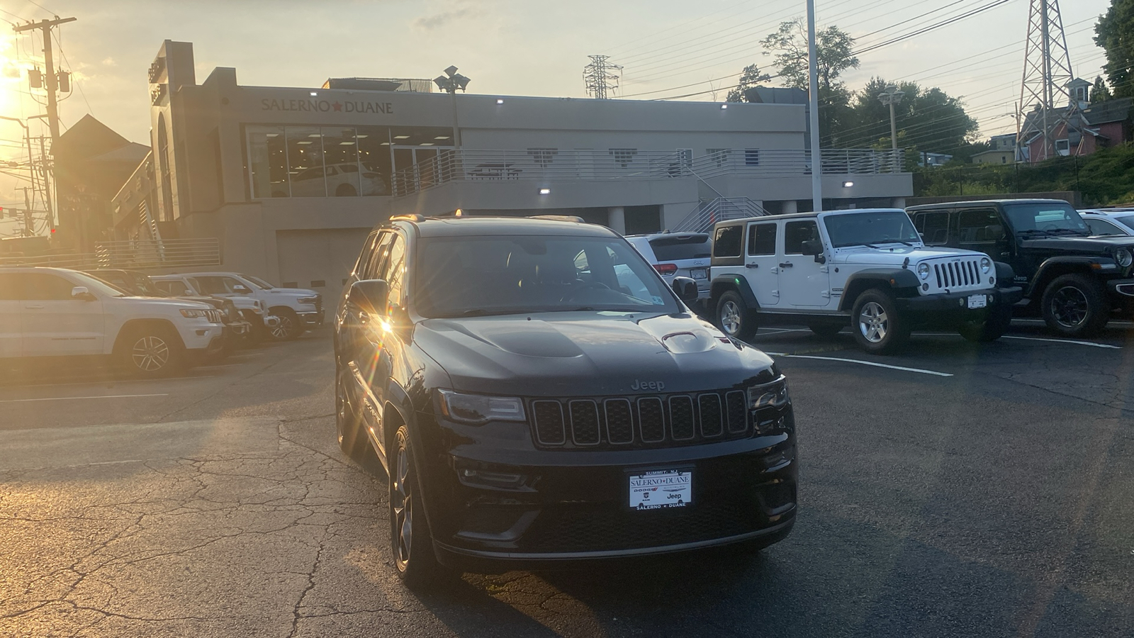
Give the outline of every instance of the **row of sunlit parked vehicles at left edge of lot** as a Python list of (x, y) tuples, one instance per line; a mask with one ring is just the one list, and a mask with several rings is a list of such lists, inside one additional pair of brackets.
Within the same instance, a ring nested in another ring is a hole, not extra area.
[(0, 364), (111, 359), (139, 376), (286, 341), (322, 324), (322, 296), (237, 272), (0, 268)]

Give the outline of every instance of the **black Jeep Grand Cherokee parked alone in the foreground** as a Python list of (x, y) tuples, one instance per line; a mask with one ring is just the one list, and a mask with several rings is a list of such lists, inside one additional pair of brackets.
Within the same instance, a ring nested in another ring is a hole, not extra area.
[(439, 563), (762, 547), (795, 522), (782, 375), (604, 227), (395, 218), (335, 328), (339, 443), (386, 467), (412, 587)]

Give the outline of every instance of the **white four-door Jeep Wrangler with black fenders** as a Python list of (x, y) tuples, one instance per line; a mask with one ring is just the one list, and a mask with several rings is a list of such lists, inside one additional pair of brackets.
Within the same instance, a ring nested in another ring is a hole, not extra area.
[(1008, 265), (925, 247), (898, 209), (721, 221), (713, 240), (709, 308), (742, 341), (761, 321), (804, 324), (826, 337), (850, 326), (874, 354), (895, 352), (914, 328), (993, 341), (1022, 295)]

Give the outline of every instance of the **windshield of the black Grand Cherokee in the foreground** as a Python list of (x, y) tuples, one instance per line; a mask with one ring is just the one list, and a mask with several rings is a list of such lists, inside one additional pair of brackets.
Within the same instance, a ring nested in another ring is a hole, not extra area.
[(424, 317), (570, 310), (677, 312), (653, 268), (623, 240), (434, 237), (417, 257)]

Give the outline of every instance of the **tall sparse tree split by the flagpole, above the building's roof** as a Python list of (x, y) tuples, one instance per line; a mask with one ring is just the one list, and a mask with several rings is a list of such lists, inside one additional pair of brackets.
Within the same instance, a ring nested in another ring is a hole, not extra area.
[[(779, 30), (760, 43), (775, 54), (772, 62), (785, 84), (809, 90), (807, 30), (802, 18), (780, 23)], [(839, 145), (840, 133), (847, 125), (850, 92), (839, 76), (848, 68), (858, 68), (853, 47), (854, 37), (837, 26), (815, 32), (819, 133), (821, 138), (830, 141), (828, 146)]]

